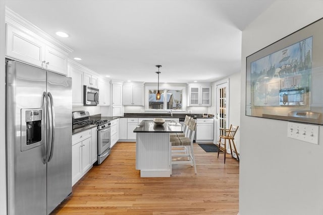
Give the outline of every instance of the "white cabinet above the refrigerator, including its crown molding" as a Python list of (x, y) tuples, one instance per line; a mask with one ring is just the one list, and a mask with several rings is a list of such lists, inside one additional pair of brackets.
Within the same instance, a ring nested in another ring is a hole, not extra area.
[(7, 57), (67, 76), (67, 60), (72, 49), (51, 38), (9, 9), (6, 9), (6, 24)]

